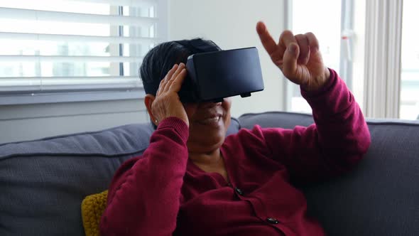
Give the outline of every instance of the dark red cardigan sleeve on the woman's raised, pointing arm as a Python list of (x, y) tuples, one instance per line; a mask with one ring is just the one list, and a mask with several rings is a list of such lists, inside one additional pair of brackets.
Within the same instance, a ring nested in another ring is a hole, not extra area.
[(349, 171), (371, 143), (364, 115), (334, 70), (320, 91), (301, 91), (312, 107), (315, 124), (294, 129), (262, 129), (273, 158), (288, 168), (296, 183)]

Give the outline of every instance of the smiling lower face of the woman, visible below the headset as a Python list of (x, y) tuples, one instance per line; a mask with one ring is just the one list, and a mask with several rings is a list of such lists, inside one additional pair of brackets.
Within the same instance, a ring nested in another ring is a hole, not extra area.
[(219, 148), (231, 122), (231, 98), (217, 103), (184, 103), (183, 107), (189, 119), (188, 151), (207, 153)]

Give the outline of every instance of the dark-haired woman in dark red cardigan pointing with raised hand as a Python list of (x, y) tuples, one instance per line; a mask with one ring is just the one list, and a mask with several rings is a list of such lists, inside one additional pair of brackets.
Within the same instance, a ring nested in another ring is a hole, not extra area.
[(293, 184), (349, 171), (369, 147), (369, 130), (344, 82), (323, 65), (312, 33), (284, 31), (276, 43), (263, 23), (256, 30), (273, 63), (300, 85), (315, 124), (256, 125), (225, 137), (231, 100), (186, 103), (178, 95), (187, 56), (217, 45), (157, 45), (141, 66), (157, 128), (143, 155), (116, 172), (102, 235), (325, 235)]

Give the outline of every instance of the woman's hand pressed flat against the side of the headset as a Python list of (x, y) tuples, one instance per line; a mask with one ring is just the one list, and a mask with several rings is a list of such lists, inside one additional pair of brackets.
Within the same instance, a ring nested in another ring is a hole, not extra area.
[(183, 108), (178, 95), (186, 75), (185, 64), (180, 63), (180, 65), (174, 65), (164, 79), (160, 81), (156, 99), (151, 104), (151, 112), (156, 119), (156, 123), (168, 117), (178, 117), (189, 126), (185, 108)]

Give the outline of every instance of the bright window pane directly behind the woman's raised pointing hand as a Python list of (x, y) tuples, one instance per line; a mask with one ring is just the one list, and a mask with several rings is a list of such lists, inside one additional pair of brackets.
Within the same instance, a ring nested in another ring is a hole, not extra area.
[[(336, 70), (352, 89), (353, 1), (290, 0), (290, 2), (292, 5), (290, 28), (293, 33), (315, 33), (325, 65)], [(311, 113), (310, 106), (300, 95), (298, 85), (289, 84), (288, 94), (290, 94), (287, 98), (290, 100), (288, 111)]]

